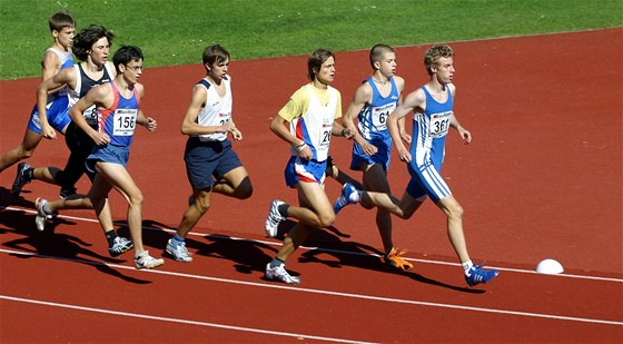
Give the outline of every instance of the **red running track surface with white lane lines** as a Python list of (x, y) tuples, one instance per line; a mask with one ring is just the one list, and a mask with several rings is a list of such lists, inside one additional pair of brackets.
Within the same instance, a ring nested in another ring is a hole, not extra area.
[[(349, 207), (334, 230), (314, 235), (288, 262), (303, 284), (261, 279), (279, 240), (264, 236), (269, 202), (296, 198), (283, 181), (287, 150), (269, 120), (305, 82), (306, 57), (234, 61), (235, 148), (254, 183), (245, 202), (216, 195), (188, 247), (191, 264), (167, 259), (135, 271), (111, 259), (91, 212), (66, 212), (53, 229), (34, 228), (32, 203), (58, 188), (32, 183), (9, 196), (14, 168), (0, 175), (0, 342), (577, 342), (623, 341), (623, 30), (510, 38), (452, 46), (455, 111), (474, 141), (448, 140), (444, 175), (465, 208), (473, 259), (501, 269), (466, 288), (431, 204), (394, 219), (396, 245), (413, 272), (382, 266), (374, 213)], [(397, 49), (407, 91), (425, 82), (426, 47)], [(199, 53), (199, 52), (198, 52)], [(146, 61), (149, 63), (149, 60)], [(337, 55), (335, 86), (346, 108), (369, 73), (367, 51)], [(148, 69), (142, 102), (158, 130), (139, 130), (129, 169), (145, 194), (145, 242), (161, 255), (189, 195), (179, 134), (201, 66)], [(0, 81), (0, 150), (17, 145), (38, 80)], [(332, 155), (349, 163), (350, 142)], [(43, 141), (30, 164), (62, 166), (62, 138)], [(402, 194), (408, 175), (393, 161)], [(353, 173), (355, 176), (356, 174)], [(87, 190), (81, 180), (80, 190)], [(329, 196), (338, 194), (329, 181)], [(125, 204), (111, 197), (123, 233)], [(67, 217), (69, 216), (69, 217)], [(244, 239), (235, 239), (244, 238)], [(532, 273), (555, 258), (565, 275)]]

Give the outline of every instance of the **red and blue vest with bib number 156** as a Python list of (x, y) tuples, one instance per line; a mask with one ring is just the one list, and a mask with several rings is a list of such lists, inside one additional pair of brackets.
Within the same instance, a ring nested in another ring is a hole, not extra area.
[(130, 147), (140, 102), (138, 89), (135, 87), (132, 97), (126, 99), (115, 82), (110, 82), (110, 85), (115, 100), (108, 109), (98, 109), (98, 131), (108, 135), (112, 146)]

